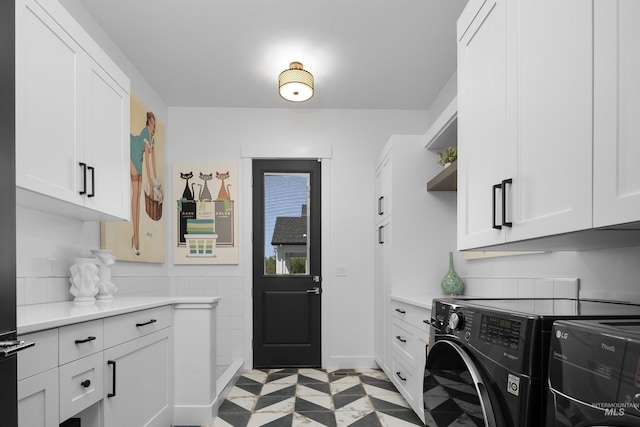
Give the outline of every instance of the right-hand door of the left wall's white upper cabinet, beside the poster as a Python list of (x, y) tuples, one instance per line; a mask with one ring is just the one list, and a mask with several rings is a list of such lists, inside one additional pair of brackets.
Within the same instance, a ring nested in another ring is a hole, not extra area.
[(129, 219), (129, 94), (103, 67), (88, 58), (85, 80), (85, 161), (91, 166), (92, 197), (86, 206)]

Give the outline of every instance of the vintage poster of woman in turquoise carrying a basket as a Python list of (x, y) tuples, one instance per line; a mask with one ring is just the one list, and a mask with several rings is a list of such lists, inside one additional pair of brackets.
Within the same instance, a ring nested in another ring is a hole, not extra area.
[(163, 263), (166, 223), (163, 213), (164, 123), (135, 94), (130, 97), (131, 219), (103, 221), (100, 247), (111, 249), (118, 261)]

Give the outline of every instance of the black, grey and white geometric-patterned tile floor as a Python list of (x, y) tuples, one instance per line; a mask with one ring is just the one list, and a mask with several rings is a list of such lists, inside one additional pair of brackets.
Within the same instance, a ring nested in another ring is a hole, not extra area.
[(212, 426), (415, 425), (424, 426), (380, 370), (254, 369), (238, 379)]

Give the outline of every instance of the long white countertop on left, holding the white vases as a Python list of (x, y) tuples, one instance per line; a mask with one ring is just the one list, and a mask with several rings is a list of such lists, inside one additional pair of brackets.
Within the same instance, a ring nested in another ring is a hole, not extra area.
[(220, 297), (115, 297), (108, 300), (76, 303), (73, 301), (17, 307), (18, 335), (58, 328), (73, 323), (102, 319), (132, 311), (173, 304), (212, 304)]

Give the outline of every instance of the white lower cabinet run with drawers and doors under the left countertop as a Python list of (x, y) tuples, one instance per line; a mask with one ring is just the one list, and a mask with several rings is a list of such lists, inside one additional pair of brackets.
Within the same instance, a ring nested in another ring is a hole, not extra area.
[(35, 342), (18, 354), (20, 427), (53, 427), (73, 417), (83, 427), (173, 424), (170, 305), (20, 339)]

